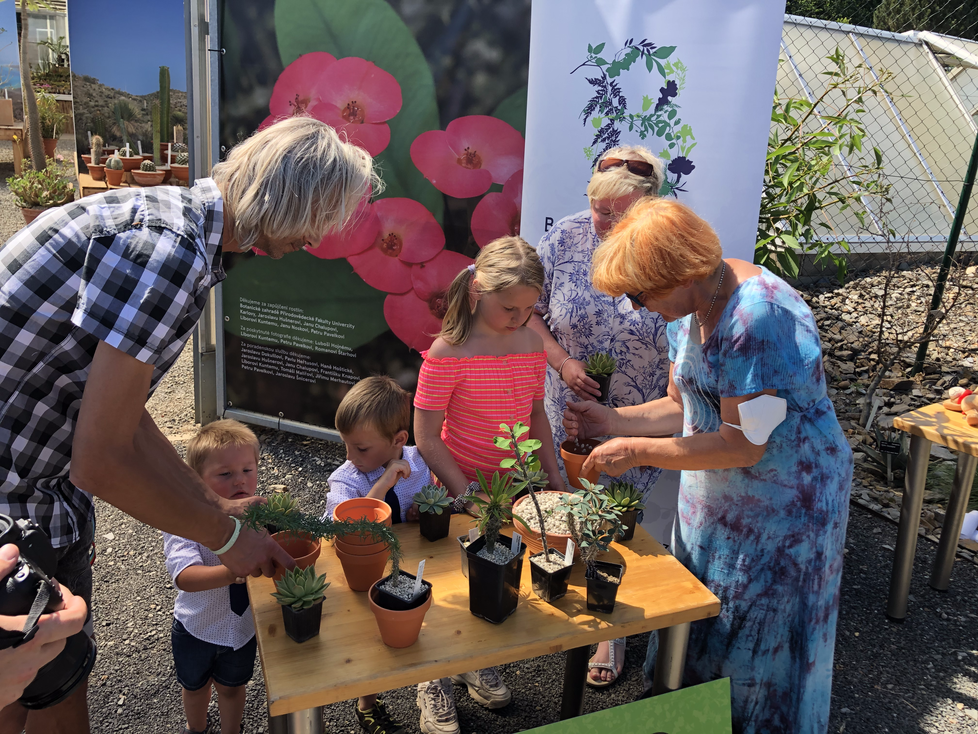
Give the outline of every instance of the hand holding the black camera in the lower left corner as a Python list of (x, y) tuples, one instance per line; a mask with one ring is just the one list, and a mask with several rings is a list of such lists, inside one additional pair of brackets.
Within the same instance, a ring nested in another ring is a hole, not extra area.
[[(14, 569), (17, 555), (17, 546), (13, 544), (0, 549), (0, 578)], [(0, 709), (20, 698), (37, 671), (54, 660), (64, 649), (65, 640), (84, 627), (88, 615), (84, 600), (63, 586), (61, 596), (64, 598), (61, 609), (41, 616), (34, 639), (17, 648), (0, 650)], [(20, 632), (26, 621), (26, 616), (0, 616), (0, 627)]]

